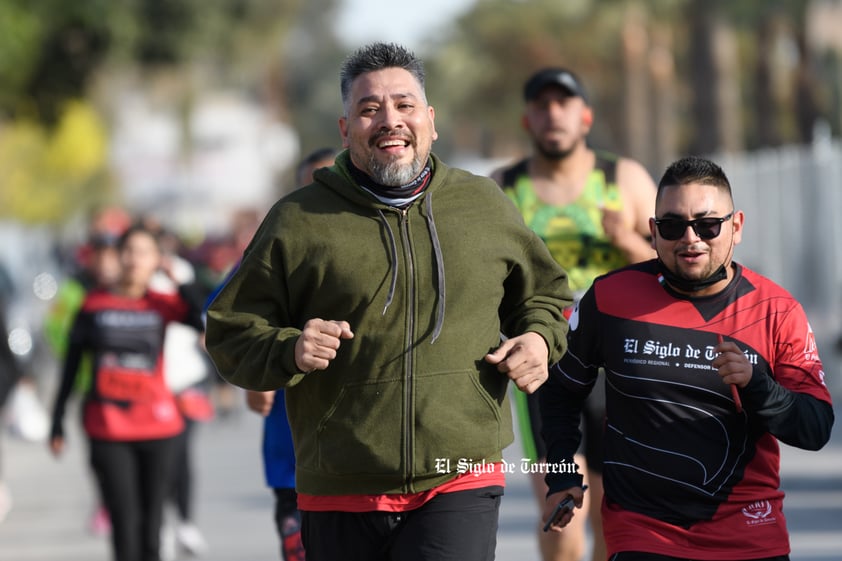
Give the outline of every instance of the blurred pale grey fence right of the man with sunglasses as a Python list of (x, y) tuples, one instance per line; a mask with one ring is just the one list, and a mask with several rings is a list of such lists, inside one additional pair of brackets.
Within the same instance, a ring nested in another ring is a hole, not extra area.
[(736, 259), (792, 292), (811, 321), (838, 328), (842, 143), (722, 155), (716, 161), (746, 214)]

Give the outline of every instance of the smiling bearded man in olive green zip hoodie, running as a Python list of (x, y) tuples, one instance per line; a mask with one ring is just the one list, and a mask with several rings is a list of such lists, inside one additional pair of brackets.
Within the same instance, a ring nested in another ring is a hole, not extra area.
[(507, 385), (564, 352), (567, 276), (493, 181), (431, 153), (412, 53), (363, 47), (340, 81), (347, 150), (269, 211), (208, 350), (286, 388), (309, 560), (493, 559)]

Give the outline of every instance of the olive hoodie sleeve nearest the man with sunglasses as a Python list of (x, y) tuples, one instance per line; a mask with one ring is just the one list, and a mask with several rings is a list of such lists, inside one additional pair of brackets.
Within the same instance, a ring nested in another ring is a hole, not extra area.
[(544, 242), (531, 231), (527, 236), (523, 261), (505, 281), (501, 326), (507, 337), (529, 331), (541, 335), (547, 342), (552, 364), (567, 348), (564, 309), (573, 303), (573, 295), (567, 272), (552, 258)]

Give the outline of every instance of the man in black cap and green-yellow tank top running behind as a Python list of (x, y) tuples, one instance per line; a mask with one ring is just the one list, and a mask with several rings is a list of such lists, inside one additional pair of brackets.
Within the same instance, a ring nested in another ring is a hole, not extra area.
[[(523, 93), (526, 108), (521, 123), (533, 153), (496, 170), (492, 177), (567, 271), (578, 300), (598, 275), (655, 255), (647, 239), (655, 183), (639, 163), (588, 146), (593, 110), (572, 72), (540, 70), (526, 82)], [(533, 462), (543, 462), (546, 447), (540, 436), (538, 394), (514, 393), (524, 453)], [(594, 561), (605, 559), (600, 516), (604, 412), (604, 390), (598, 385), (582, 417), (584, 448), (576, 456), (587, 473), (586, 512)], [(530, 477), (541, 512), (547, 493), (544, 475)], [(563, 534), (541, 531), (542, 523), (538, 541), (544, 561), (582, 559), (585, 520), (576, 517)]]

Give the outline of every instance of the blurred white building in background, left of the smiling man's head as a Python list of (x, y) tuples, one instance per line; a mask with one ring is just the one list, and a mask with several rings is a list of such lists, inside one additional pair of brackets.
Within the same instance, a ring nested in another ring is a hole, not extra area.
[(268, 210), (299, 152), (295, 132), (244, 95), (204, 96), (187, 116), (141, 91), (116, 107), (111, 164), (124, 203), (182, 235), (223, 232), (238, 210)]

